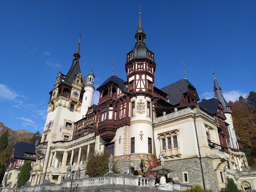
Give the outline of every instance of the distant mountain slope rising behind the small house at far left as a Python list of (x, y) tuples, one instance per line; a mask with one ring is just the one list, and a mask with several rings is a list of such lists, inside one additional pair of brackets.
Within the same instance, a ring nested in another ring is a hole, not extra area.
[(6, 131), (9, 130), (8, 143), (15, 145), (18, 141), (29, 142), (30, 138), (34, 135), (34, 133), (27, 130), (12, 130), (7, 126), (4, 126), (2, 122), (0, 122), (0, 136)]

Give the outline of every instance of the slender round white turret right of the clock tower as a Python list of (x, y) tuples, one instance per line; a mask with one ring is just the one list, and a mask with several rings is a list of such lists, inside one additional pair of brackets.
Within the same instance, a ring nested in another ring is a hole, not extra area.
[(79, 119), (82, 119), (85, 117), (87, 110), (90, 106), (92, 106), (92, 98), (93, 98), (93, 93), (94, 93), (94, 73), (91, 71), (87, 75), (87, 82), (86, 85), (84, 86), (84, 96), (83, 96), (83, 101), (82, 101), (82, 108), (80, 112), (80, 117)]

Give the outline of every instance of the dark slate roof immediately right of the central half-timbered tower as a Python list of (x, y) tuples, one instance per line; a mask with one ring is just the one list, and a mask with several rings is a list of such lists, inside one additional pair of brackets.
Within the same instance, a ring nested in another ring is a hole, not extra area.
[(183, 78), (174, 82), (160, 90), (167, 93), (167, 98), (169, 99), (169, 103), (172, 105), (179, 104), (184, 93), (188, 91), (188, 86), (192, 86), (196, 89), (187, 79)]

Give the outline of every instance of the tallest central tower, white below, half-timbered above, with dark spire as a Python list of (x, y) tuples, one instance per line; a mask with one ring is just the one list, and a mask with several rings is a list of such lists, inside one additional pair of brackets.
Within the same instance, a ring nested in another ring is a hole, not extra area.
[(130, 140), (131, 153), (152, 153), (152, 109), (154, 97), (154, 53), (145, 44), (146, 34), (142, 29), (139, 12), (138, 30), (135, 33), (135, 46), (127, 54), (127, 88), (131, 94)]

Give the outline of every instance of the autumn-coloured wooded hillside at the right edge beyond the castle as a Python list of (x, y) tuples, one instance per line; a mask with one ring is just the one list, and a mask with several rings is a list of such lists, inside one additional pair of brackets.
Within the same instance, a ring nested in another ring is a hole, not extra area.
[(244, 142), (248, 164), (256, 168), (256, 93), (251, 91), (246, 98), (240, 96), (229, 105), (232, 107), (234, 128)]

